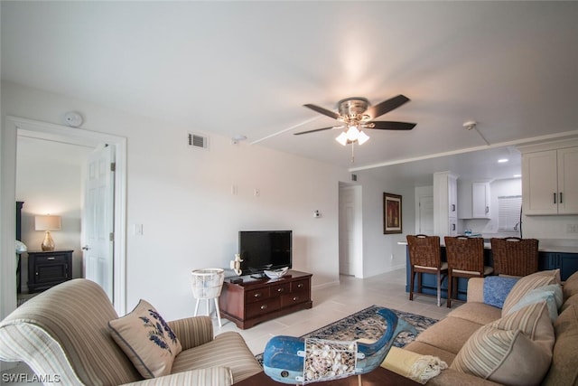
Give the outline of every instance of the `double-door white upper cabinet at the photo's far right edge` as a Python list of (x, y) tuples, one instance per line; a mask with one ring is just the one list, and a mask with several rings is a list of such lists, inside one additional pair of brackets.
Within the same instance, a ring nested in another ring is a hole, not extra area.
[(578, 214), (578, 139), (519, 149), (524, 214)]

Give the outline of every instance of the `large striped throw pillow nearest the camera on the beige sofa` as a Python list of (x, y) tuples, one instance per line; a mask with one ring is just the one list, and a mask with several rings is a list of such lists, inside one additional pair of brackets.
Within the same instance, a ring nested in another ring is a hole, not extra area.
[(537, 385), (550, 367), (554, 342), (543, 301), (480, 327), (450, 368), (505, 385)]

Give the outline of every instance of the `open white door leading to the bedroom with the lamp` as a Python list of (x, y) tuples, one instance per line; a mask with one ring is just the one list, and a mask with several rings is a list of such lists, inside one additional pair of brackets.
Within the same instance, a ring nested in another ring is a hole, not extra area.
[(103, 287), (113, 301), (115, 151), (105, 146), (89, 155), (86, 169), (83, 261), (85, 278)]

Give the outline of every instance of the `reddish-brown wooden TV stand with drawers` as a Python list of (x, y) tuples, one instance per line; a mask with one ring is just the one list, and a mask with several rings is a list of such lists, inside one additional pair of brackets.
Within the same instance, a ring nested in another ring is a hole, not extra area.
[(310, 273), (289, 270), (283, 278), (239, 278), (243, 282), (237, 284), (231, 283), (236, 278), (226, 278), (219, 297), (220, 315), (238, 328), (313, 306)]

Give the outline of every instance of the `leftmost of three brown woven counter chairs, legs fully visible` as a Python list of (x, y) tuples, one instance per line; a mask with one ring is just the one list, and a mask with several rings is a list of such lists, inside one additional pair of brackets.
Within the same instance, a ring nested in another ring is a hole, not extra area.
[(422, 273), (435, 275), (437, 306), (442, 306), (442, 281), (448, 273), (448, 263), (442, 261), (440, 237), (424, 234), (407, 235), (409, 250), (410, 280), (409, 300), (414, 300), (414, 281), (417, 274), (417, 292), (422, 292)]

